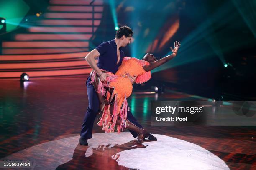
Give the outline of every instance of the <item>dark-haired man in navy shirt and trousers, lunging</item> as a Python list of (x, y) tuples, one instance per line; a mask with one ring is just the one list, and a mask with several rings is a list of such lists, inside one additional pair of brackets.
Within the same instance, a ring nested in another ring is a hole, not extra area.
[[(100, 69), (106, 70), (108, 72), (112, 72), (115, 74), (117, 72), (118, 67), (122, 64), (123, 57), (125, 57), (122, 48), (126, 47), (127, 44), (131, 43), (131, 37), (133, 36), (133, 30), (128, 26), (120, 27), (116, 34), (115, 39), (107, 42), (101, 43), (94, 50), (89, 52), (85, 57), (85, 60), (88, 62), (90, 67), (97, 73), (100, 78), (100, 81), (105, 82), (108, 77), (107, 74), (102, 72)], [(95, 58), (99, 57), (98, 63), (95, 63)], [(136, 80), (136, 75), (130, 76), (129, 79), (133, 84)], [(89, 106), (87, 107), (87, 112), (84, 116), (84, 122), (82, 124), (82, 129), (80, 133), (79, 143), (80, 145), (88, 145), (87, 139), (92, 138), (92, 128), (94, 120), (98, 113), (99, 108), (99, 100), (97, 97), (97, 93), (90, 83), (90, 76), (87, 79), (87, 95)], [(132, 113), (128, 111), (127, 119), (132, 122), (134, 125), (139, 128), (143, 128), (137, 120), (133, 117)], [(138, 136), (136, 132), (133, 130), (129, 130), (134, 138)], [(148, 134), (146, 136), (149, 140), (156, 140), (156, 138)]]

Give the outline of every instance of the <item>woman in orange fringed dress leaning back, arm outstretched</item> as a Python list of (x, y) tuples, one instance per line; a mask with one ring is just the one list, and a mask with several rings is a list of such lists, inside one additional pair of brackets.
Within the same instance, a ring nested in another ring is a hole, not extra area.
[(138, 133), (138, 142), (141, 143), (143, 141), (147, 135), (146, 130), (137, 127), (126, 119), (129, 108), (126, 99), (131, 95), (133, 89), (127, 77), (128, 75), (138, 75), (136, 83), (140, 84), (148, 81), (151, 78), (150, 71), (175, 57), (179, 47), (180, 43), (174, 42), (174, 49), (170, 47), (173, 52), (172, 55), (168, 55), (160, 60), (156, 60), (151, 54), (146, 54), (142, 60), (124, 57), (122, 65), (120, 65), (115, 75), (107, 72), (107, 82), (104, 83), (99, 81), (101, 75), (97, 75), (92, 70), (91, 79), (98, 94), (100, 112), (102, 112), (102, 117), (97, 125), (102, 126), (102, 130), (111, 133), (115, 131), (116, 126), (117, 132), (120, 133), (121, 130), (128, 128)]

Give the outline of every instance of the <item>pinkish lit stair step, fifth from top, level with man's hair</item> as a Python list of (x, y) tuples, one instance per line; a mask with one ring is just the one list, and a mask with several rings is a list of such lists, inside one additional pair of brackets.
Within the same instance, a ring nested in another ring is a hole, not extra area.
[(31, 27), (29, 32), (87, 32), (92, 33), (92, 27)]

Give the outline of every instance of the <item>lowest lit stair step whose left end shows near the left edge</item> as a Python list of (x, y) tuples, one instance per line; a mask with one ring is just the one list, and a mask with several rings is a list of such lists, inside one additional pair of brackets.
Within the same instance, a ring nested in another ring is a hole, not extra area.
[(3, 48), (88, 47), (88, 41), (3, 42)]

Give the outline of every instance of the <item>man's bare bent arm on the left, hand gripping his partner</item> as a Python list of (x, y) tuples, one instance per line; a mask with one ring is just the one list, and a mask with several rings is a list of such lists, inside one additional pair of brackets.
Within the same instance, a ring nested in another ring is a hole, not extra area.
[(90, 67), (92, 67), (93, 70), (95, 70), (95, 72), (97, 73), (97, 75), (99, 75), (100, 77), (100, 81), (104, 82), (107, 78), (108, 75), (106, 75), (105, 73), (103, 73), (100, 68), (97, 66), (96, 62), (95, 62), (95, 58), (99, 57), (100, 53), (98, 52), (98, 50), (93, 49), (91, 52), (89, 52), (86, 57), (84, 58), (87, 63), (90, 65)]

